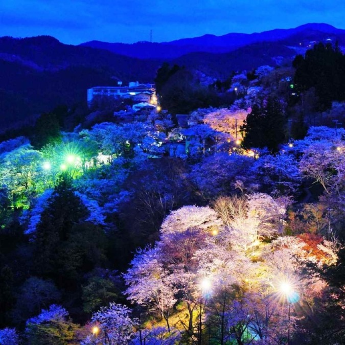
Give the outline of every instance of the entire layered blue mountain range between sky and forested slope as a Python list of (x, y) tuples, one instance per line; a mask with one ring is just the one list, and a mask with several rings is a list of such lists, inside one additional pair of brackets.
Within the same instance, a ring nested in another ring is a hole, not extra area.
[(153, 82), (164, 61), (225, 79), (233, 71), (290, 64), (314, 42), (345, 45), (345, 30), (327, 24), (262, 33), (204, 35), (134, 44), (90, 41), (67, 45), (54, 37), (0, 37), (0, 130), (59, 104), (86, 101), (86, 89), (118, 81)]

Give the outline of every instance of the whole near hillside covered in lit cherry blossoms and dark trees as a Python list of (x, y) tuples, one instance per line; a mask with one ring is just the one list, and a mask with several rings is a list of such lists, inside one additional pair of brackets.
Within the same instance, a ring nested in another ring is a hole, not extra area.
[(342, 343), (344, 66), (166, 63), (162, 109), (52, 106), (0, 143), (0, 344)]

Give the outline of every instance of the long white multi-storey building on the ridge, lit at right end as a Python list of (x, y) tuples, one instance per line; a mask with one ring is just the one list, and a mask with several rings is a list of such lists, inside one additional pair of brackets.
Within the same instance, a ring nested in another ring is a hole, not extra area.
[(90, 103), (95, 96), (106, 96), (113, 98), (131, 98), (136, 102), (148, 102), (157, 104), (156, 90), (154, 84), (140, 84), (130, 82), (128, 86), (95, 86), (87, 89), (87, 102)]

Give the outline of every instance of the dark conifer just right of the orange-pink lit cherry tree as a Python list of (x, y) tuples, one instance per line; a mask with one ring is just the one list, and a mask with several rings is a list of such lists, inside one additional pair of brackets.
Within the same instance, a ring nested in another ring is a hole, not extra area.
[(246, 149), (267, 147), (277, 152), (279, 144), (284, 142), (285, 118), (277, 99), (263, 100), (252, 107), (247, 119), (241, 126), (244, 132), (242, 146)]

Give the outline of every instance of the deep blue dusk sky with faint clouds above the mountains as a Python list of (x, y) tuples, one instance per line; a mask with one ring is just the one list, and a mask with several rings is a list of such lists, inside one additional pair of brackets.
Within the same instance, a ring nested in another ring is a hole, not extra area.
[(204, 34), (252, 33), (325, 22), (345, 29), (343, 0), (0, 0), (0, 36), (51, 35), (155, 42)]

